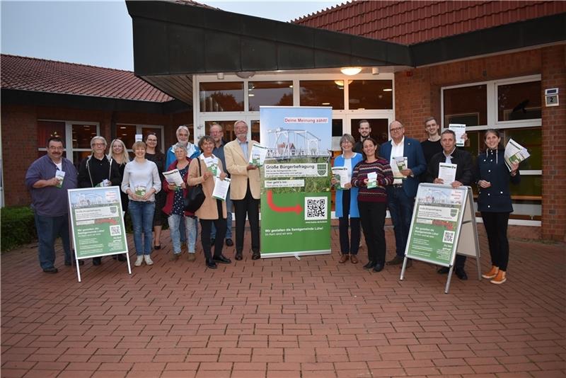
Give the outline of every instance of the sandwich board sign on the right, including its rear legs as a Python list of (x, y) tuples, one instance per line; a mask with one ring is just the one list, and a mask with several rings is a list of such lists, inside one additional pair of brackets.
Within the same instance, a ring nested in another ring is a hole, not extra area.
[(415, 198), (400, 280), (408, 258), (449, 267), (444, 290), (448, 293), (456, 254), (475, 258), (481, 280), (472, 188), (422, 183)]

